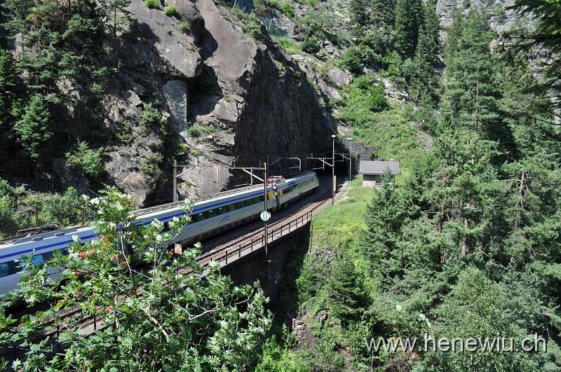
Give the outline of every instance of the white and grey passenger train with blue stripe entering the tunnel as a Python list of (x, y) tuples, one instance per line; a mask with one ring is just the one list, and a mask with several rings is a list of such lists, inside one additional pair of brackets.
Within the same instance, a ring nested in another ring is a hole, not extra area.
[[(318, 177), (313, 172), (304, 172), (283, 181), (267, 182), (267, 209), (271, 211), (281, 209), (290, 202), (316, 191), (318, 186)], [(173, 242), (195, 242), (252, 221), (263, 211), (263, 198), (264, 189), (261, 184), (198, 199), (190, 212), (191, 222), (182, 229)], [(183, 205), (183, 202), (173, 202), (140, 209), (136, 212), (135, 223), (148, 224), (158, 219), (167, 226), (166, 222), (173, 217), (185, 214)], [(22, 271), (19, 263), (14, 260), (24, 254), (33, 253), (32, 262), (39, 266), (50, 259), (55, 250), (68, 252), (69, 245), (73, 242), (72, 235), (78, 235), (81, 242), (89, 242), (97, 238), (93, 228), (86, 226), (0, 242), (0, 296), (18, 287)]]

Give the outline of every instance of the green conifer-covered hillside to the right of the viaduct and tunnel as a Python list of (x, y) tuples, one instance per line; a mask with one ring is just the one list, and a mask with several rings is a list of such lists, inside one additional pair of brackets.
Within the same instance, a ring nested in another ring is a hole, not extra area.
[[(277, 336), (290, 346), (269, 345), (280, 361), (266, 354), (262, 371), (557, 370), (560, 6), (464, 1), (450, 25), (430, 0), (349, 11), (352, 44), (335, 63), (355, 77), (339, 117), (405, 172), (373, 192), (353, 181), (315, 220), (284, 282), (296, 338)], [(386, 100), (384, 78), (405, 103)], [(424, 333), (537, 334), (547, 351), (370, 350), (370, 338)]]

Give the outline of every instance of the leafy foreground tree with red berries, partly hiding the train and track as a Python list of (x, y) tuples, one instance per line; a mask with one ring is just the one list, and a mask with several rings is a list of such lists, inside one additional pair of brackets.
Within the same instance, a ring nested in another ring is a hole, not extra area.
[[(29, 305), (45, 301), (46, 310), (16, 322), (2, 307), (0, 337), (27, 350), (27, 370), (238, 371), (255, 365), (271, 324), (268, 300), (257, 286), (234, 287), (214, 263), (202, 278), (200, 245), (170, 254), (169, 242), (189, 223), (188, 214), (170, 221), (164, 233), (157, 220), (133, 223), (132, 197), (115, 188), (91, 202), (100, 238), (76, 242), (67, 256), (57, 252), (43, 266), (30, 256), (22, 261), (29, 275), (18, 296)], [(137, 270), (135, 262), (149, 270)], [(103, 329), (86, 337), (79, 327), (60, 327), (53, 337), (65, 352), (54, 353), (53, 343), (36, 336), (70, 308), (80, 311), (67, 324), (95, 313)]]

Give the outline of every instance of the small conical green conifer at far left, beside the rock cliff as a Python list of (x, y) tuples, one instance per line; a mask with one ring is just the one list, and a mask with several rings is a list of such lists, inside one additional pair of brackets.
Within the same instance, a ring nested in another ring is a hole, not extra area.
[(34, 95), (25, 107), (21, 120), (15, 123), (14, 129), (20, 137), (25, 153), (36, 165), (48, 162), (47, 156), (52, 149), (50, 139), (53, 138), (54, 132), (46, 99), (41, 95)]

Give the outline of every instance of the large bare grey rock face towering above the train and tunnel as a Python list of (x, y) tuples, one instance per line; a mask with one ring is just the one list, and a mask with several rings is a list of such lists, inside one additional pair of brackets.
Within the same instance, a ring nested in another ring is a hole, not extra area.
[[(111, 146), (106, 169), (136, 202), (154, 193), (145, 173), (163, 146), (158, 131), (141, 120), (150, 107), (189, 150), (182, 162), (189, 166), (180, 170), (183, 197), (236, 184), (239, 174), (229, 170), (234, 163), (255, 167), (267, 155), (305, 156), (330, 146), (333, 120), (320, 95), (263, 25), (253, 38), (212, 0), (165, 5), (177, 13), (168, 17), (142, 0), (131, 1), (135, 21), (119, 38), (121, 70), (105, 99), (107, 127), (122, 127), (126, 137)], [(171, 184), (170, 165), (158, 167)]]

